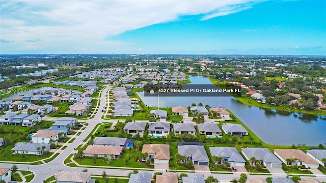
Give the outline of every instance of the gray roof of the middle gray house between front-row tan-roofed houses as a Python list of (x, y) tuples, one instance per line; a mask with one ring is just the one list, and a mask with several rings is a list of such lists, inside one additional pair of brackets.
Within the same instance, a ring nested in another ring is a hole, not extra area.
[(246, 162), (235, 147), (209, 147), (209, 151), (212, 156), (227, 157), (229, 162)]

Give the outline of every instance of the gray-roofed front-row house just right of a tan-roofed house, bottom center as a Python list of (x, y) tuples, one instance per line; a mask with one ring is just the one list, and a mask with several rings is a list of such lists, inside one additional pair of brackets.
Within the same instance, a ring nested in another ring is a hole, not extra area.
[(193, 161), (194, 165), (208, 166), (209, 158), (202, 145), (178, 145), (178, 153), (187, 157), (186, 161)]

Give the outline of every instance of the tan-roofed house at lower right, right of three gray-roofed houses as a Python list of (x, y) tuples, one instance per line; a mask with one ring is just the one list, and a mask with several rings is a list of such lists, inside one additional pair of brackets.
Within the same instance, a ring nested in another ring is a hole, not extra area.
[[(274, 154), (286, 165), (305, 166), (306, 168), (318, 168), (319, 163), (300, 149), (274, 149)], [(288, 159), (295, 160), (288, 162)]]

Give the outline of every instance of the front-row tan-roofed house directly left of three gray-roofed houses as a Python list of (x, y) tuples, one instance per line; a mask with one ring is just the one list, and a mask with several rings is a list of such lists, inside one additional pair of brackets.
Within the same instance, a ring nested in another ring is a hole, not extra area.
[(148, 153), (147, 159), (154, 159), (154, 163), (169, 164), (170, 145), (169, 144), (144, 144), (142, 153)]

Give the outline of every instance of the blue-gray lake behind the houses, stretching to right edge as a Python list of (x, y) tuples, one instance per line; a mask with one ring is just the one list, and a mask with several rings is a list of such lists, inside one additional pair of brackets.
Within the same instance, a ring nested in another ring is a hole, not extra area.
[[(189, 76), (192, 84), (212, 84), (207, 77)], [(217, 87), (216, 87), (217, 88)], [(157, 106), (157, 97), (144, 97), (143, 102)], [(243, 105), (233, 97), (160, 97), (160, 107), (191, 106), (192, 103), (229, 109), (263, 142), (277, 145), (326, 143), (326, 116), (291, 113)]]

